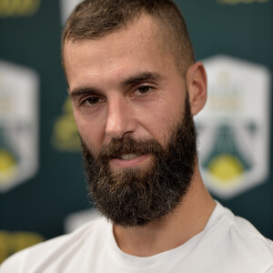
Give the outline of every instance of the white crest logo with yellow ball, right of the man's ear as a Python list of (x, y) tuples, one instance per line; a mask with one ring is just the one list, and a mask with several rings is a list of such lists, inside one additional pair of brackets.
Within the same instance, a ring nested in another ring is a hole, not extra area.
[(270, 75), (229, 56), (203, 63), (207, 106), (195, 119), (200, 169), (212, 193), (234, 197), (268, 177)]

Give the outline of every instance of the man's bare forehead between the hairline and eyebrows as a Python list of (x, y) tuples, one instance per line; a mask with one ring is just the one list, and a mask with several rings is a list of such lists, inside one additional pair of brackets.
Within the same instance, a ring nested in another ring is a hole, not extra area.
[(66, 41), (64, 61), (68, 84), (83, 80), (84, 76), (94, 79), (96, 75), (110, 76), (111, 72), (120, 76), (129, 73), (128, 70), (136, 74), (141, 72), (136, 70), (154, 69), (152, 66), (160, 70), (173, 59), (164, 47), (159, 27), (149, 15), (141, 15), (103, 37)]

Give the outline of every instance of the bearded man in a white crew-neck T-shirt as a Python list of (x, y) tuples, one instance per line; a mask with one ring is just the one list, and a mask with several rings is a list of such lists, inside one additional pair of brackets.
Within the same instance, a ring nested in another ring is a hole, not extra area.
[[(192, 116), (204, 66), (170, 0), (86, 0), (63, 62), (90, 195), (104, 218), (1, 272), (273, 272), (273, 243), (208, 194)], [(106, 220), (106, 219), (107, 220)]]

